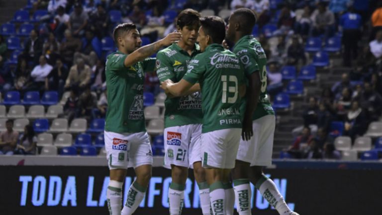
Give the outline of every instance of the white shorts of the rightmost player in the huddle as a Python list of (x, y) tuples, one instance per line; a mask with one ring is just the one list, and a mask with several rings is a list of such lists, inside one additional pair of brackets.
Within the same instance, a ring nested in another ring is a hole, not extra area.
[(254, 120), (252, 126), (253, 136), (249, 141), (240, 139), (236, 159), (251, 163), (251, 166), (270, 166), (276, 117), (275, 115), (261, 117)]

